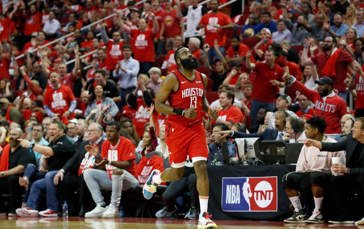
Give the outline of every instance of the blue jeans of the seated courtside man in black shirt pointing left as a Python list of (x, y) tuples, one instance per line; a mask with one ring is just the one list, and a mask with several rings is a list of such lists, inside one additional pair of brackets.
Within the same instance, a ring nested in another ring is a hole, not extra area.
[(30, 190), (30, 195), (27, 201), (27, 207), (37, 209), (41, 197), (41, 191), (47, 192), (47, 208), (58, 212), (60, 204), (57, 199), (57, 188), (53, 183), (54, 176), (57, 171), (51, 171), (46, 173), (46, 177), (37, 180), (33, 183)]

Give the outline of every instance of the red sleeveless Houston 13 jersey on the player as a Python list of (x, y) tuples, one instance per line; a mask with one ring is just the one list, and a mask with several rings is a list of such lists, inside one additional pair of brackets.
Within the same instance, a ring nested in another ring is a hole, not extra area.
[(168, 102), (171, 107), (179, 109), (189, 109), (191, 107), (197, 107), (197, 115), (195, 119), (185, 118), (181, 115), (168, 115), (167, 122), (174, 122), (181, 125), (194, 125), (202, 122), (202, 95), (205, 86), (203, 86), (203, 79), (201, 73), (195, 72), (195, 78), (193, 80), (187, 79), (179, 69), (172, 73), (177, 76), (178, 90), (172, 91), (169, 95)]

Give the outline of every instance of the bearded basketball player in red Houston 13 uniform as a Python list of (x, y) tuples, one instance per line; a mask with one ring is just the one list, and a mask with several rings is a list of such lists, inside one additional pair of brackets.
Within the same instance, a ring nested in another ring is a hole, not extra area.
[[(174, 60), (179, 69), (167, 75), (155, 99), (155, 109), (169, 118), (166, 123), (166, 143), (169, 151), (171, 168), (162, 173), (155, 169), (143, 187), (145, 199), (151, 199), (158, 185), (164, 181), (179, 180), (185, 169), (187, 154), (197, 175), (197, 191), (201, 213), (198, 228), (216, 228), (207, 213), (209, 200), (209, 178), (206, 160), (208, 155), (206, 133), (202, 116), (205, 111), (211, 118), (218, 117), (217, 111), (210, 108), (205, 98), (207, 77), (195, 69), (198, 61), (191, 50), (179, 46), (174, 53)], [(166, 105), (166, 101), (170, 105)]]

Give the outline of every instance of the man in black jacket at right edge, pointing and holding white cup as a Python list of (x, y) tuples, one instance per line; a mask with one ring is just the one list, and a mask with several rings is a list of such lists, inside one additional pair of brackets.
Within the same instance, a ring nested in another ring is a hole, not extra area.
[[(303, 140), (307, 147), (314, 146), (320, 151), (335, 152), (346, 150), (346, 165), (333, 164), (332, 171), (342, 173), (344, 176), (332, 176), (330, 180), (331, 191), (335, 196), (337, 217), (329, 223), (353, 224), (357, 220), (353, 214), (352, 206), (347, 201), (348, 193), (359, 189), (359, 197), (363, 199), (363, 179), (364, 174), (364, 117), (355, 119), (352, 133), (347, 139), (336, 143), (319, 142), (312, 139)], [(362, 203), (363, 205), (363, 203)], [(360, 221), (359, 221), (360, 222)]]

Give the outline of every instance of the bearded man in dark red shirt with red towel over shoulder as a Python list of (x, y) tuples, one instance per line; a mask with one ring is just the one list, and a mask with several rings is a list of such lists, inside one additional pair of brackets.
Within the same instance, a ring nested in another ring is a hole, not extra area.
[[(348, 72), (348, 66), (350, 65), (353, 69), (354, 65), (360, 67), (359, 63), (346, 51), (337, 49), (336, 39), (333, 37), (325, 37), (324, 52), (308, 58), (308, 42), (307, 39), (304, 41), (301, 65), (317, 65), (317, 72), (320, 73), (320, 77), (332, 78), (333, 89), (337, 89), (339, 91), (338, 95), (346, 101), (347, 89), (343, 82)], [(358, 73), (355, 72), (355, 75)]]

